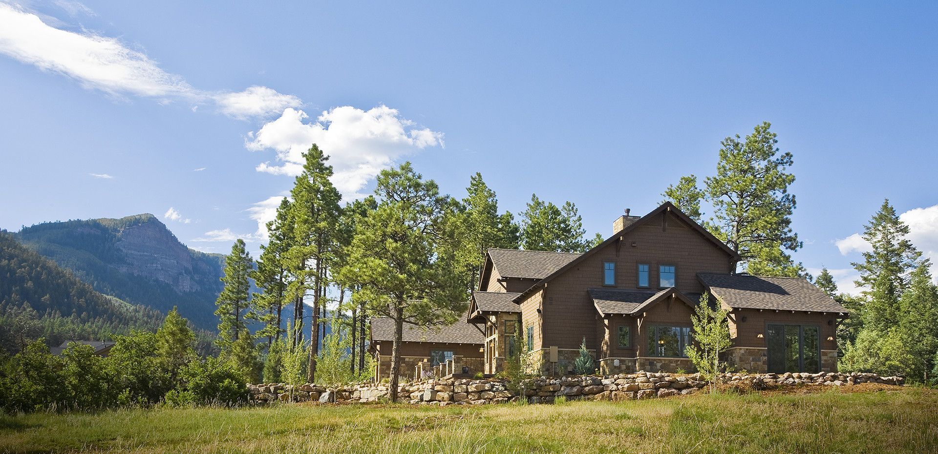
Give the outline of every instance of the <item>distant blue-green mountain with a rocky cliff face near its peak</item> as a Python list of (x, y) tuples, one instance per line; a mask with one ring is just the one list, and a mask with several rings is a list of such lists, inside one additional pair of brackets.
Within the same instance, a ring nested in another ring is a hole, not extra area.
[(16, 237), (102, 294), (160, 312), (174, 306), (214, 330), (224, 256), (190, 250), (150, 214), (44, 222)]

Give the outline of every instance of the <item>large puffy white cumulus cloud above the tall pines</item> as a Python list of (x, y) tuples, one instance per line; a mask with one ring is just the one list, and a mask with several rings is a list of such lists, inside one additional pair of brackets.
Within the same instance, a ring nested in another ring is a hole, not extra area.
[(432, 146), (444, 146), (443, 133), (417, 127), (396, 109), (379, 105), (368, 111), (352, 106), (336, 107), (309, 115), (288, 108), (280, 118), (250, 134), (250, 150), (277, 152), (276, 163), (263, 162), (259, 172), (297, 175), (302, 172), (302, 154), (311, 144), (319, 145), (335, 169), (333, 184), (347, 198), (357, 198), (371, 178), (394, 164), (396, 159)]

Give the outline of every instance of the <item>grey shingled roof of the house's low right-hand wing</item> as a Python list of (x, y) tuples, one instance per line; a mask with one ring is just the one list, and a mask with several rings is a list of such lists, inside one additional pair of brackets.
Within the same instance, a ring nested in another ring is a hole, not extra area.
[(698, 273), (697, 279), (710, 293), (734, 309), (847, 311), (804, 278)]

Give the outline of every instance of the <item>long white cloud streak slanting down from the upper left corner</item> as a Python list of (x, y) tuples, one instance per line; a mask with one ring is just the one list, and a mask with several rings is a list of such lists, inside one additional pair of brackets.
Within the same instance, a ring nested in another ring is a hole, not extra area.
[[(60, 7), (72, 15), (84, 8), (78, 2), (61, 2)], [(85, 88), (116, 98), (136, 96), (158, 98), (161, 103), (173, 100), (214, 103), (219, 112), (235, 118), (280, 114), (286, 107), (301, 105), (299, 98), (264, 86), (251, 86), (241, 92), (196, 89), (116, 38), (56, 28), (43, 22), (38, 14), (13, 5), (0, 3), (0, 24), (0, 53), (63, 74)]]

